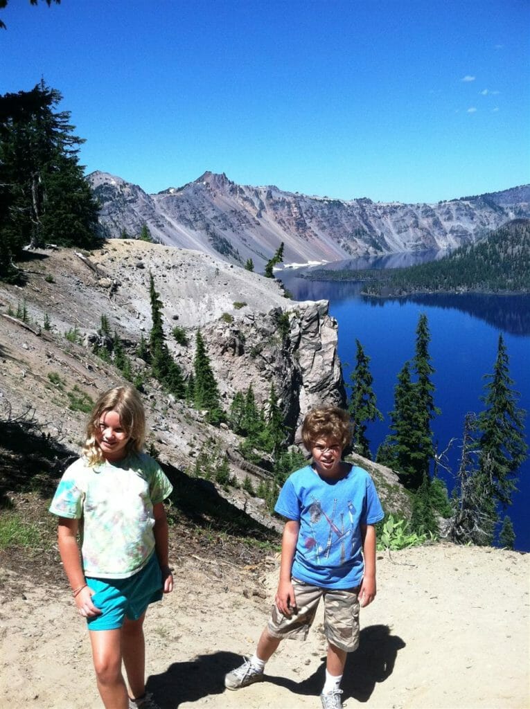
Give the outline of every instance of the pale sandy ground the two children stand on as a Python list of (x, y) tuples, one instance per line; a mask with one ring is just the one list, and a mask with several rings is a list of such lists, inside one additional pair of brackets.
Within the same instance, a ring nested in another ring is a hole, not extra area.
[[(343, 680), (348, 709), (528, 708), (530, 555), (436, 545), (378, 556), (377, 599), (361, 611)], [(145, 625), (148, 688), (162, 709), (320, 706), (320, 612), (306, 642), (280, 645), (266, 681), (223, 687), (267, 620), (277, 559), (241, 568), (184, 557), (175, 578)], [(101, 708), (87, 630), (64, 582), (10, 592), (13, 572), (1, 580), (1, 707)]]

